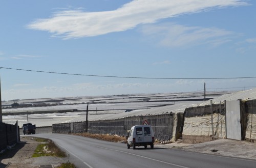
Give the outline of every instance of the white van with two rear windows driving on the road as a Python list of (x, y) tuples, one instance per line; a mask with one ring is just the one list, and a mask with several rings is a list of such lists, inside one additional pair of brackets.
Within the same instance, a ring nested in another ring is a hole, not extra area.
[(147, 145), (150, 145), (151, 149), (153, 149), (154, 142), (154, 132), (150, 125), (135, 125), (131, 128), (127, 138), (127, 148), (130, 149), (132, 146), (135, 149), (136, 146), (144, 146), (146, 149)]

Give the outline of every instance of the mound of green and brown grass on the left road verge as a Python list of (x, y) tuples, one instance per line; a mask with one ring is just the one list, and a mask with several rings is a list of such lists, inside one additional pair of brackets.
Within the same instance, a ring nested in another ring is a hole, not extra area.
[[(42, 141), (42, 138), (38, 138), (39, 141)], [(57, 157), (66, 157), (66, 153), (61, 151), (55, 144), (49, 139), (45, 139), (42, 142), (47, 142), (44, 144), (39, 144), (32, 157), (40, 156), (57, 156)]]

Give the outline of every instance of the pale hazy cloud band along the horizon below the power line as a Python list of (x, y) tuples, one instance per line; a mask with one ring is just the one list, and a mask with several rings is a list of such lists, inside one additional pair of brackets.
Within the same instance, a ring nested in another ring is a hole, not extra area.
[[(250, 79), (226, 79), (226, 80), (168, 80), (162, 82), (135, 82), (115, 83), (99, 85), (96, 83), (76, 83), (65, 87), (48, 86), (35, 88), (12, 88), (2, 92), (2, 100), (32, 99), (50, 97), (74, 97), (74, 96), (98, 96), (98, 95), (120, 95), (138, 93), (169, 93), (169, 92), (192, 92), (206, 90), (241, 90), (244, 86), (251, 86), (255, 83), (254, 78)], [(230, 85), (232, 83), (232, 85)], [(218, 87), (216, 87), (218, 86)], [(232, 86), (232, 88), (230, 88)], [(252, 87), (251, 87), (252, 88)], [(255, 87), (253, 87), (255, 88)], [(245, 87), (248, 89), (248, 87)], [(249, 88), (250, 89), (250, 88)]]

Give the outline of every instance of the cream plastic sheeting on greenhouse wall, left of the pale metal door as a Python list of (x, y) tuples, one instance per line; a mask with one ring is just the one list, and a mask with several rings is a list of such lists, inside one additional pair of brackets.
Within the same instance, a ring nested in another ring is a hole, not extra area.
[[(184, 135), (199, 135), (199, 136), (219, 136), (224, 137), (225, 131), (225, 116), (213, 114), (213, 124), (211, 124), (211, 115), (186, 117), (182, 134)], [(212, 135), (212, 125), (214, 134)]]

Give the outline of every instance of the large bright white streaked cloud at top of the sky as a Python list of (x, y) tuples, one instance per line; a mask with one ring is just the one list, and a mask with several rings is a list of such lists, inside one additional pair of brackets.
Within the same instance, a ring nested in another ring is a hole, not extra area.
[(138, 24), (154, 23), (159, 19), (211, 8), (247, 5), (244, 0), (139, 0), (113, 11), (84, 12), (66, 10), (51, 18), (37, 19), (27, 25), (29, 29), (48, 31), (63, 39), (98, 36), (133, 29)]

